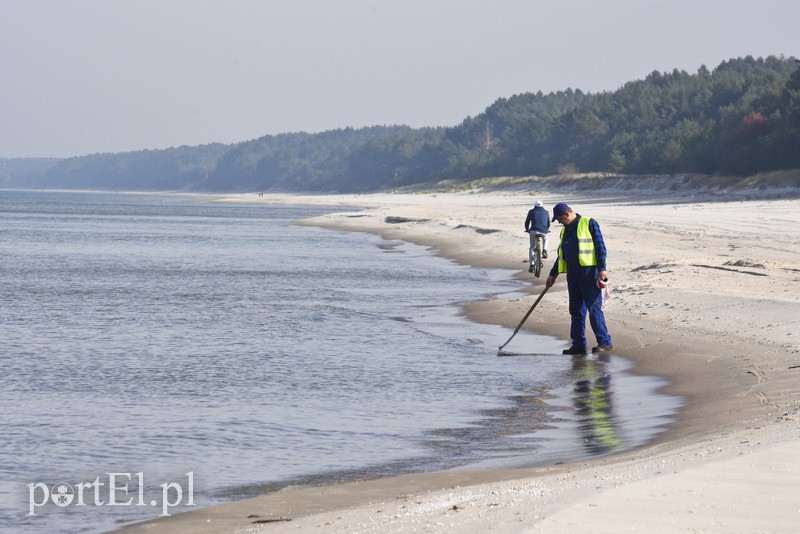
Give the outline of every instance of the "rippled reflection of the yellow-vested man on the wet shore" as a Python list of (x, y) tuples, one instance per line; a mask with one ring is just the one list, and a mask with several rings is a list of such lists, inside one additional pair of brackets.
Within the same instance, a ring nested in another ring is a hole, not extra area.
[(611, 452), (624, 445), (615, 429), (611, 373), (606, 369), (610, 361), (609, 354), (601, 354), (597, 360), (584, 355), (572, 357), (578, 429), (592, 454)]

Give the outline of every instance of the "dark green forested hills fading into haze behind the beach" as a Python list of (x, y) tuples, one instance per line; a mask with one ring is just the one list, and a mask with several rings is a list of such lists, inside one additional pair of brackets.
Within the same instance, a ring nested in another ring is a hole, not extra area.
[(365, 192), (490, 176), (796, 169), (800, 63), (748, 56), (692, 74), (654, 71), (615, 91), (524, 93), (446, 128), (342, 128), (37, 162), (0, 162), (0, 184)]

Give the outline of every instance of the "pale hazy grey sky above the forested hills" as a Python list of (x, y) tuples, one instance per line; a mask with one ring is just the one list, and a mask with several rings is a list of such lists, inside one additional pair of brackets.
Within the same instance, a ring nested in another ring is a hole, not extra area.
[(0, 0), (0, 158), (455, 126), (498, 98), (800, 57), (800, 0)]

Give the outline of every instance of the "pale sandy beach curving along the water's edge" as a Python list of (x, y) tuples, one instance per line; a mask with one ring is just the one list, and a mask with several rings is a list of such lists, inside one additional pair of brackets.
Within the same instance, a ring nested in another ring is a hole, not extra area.
[[(510, 328), (545, 278), (527, 272), (527, 210), (535, 199), (548, 209), (567, 202), (597, 219), (605, 236), (612, 357), (667, 378), (667, 391), (686, 406), (655, 442), (591, 461), (286, 489), (123, 530), (797, 532), (798, 191), (652, 185), (224, 199), (353, 206), (303, 224), (371, 232), (466, 265), (517, 270), (530, 281), (530, 295), (466, 308), (476, 321)], [(553, 224), (551, 251), (560, 230)], [(568, 320), (561, 277), (526, 328), (563, 339), (566, 348)]]

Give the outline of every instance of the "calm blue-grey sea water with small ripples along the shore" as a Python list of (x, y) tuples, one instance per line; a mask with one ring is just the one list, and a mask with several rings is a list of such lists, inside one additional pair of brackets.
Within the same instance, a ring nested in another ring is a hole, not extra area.
[(607, 454), (679, 408), (552, 338), (498, 358), (510, 331), (459, 305), (518, 291), (513, 273), (293, 224), (334, 210), (0, 191), (0, 528)]

